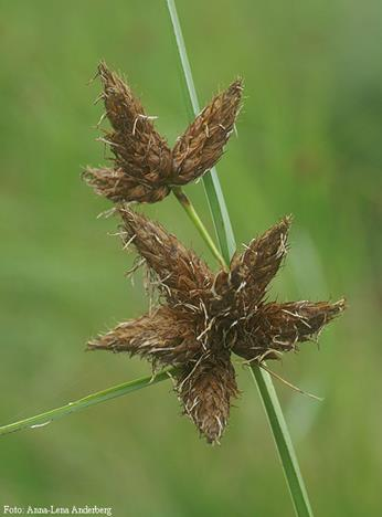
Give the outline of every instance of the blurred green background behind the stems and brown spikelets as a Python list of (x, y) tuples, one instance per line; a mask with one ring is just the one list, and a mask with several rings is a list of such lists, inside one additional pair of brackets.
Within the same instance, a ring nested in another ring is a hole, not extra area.
[[(219, 165), (238, 243), (293, 213), (279, 299), (347, 314), (273, 363), (317, 515), (376, 516), (382, 499), (382, 4), (179, 1), (201, 103), (236, 75), (245, 107)], [(0, 2), (1, 423), (149, 373), (87, 338), (147, 300), (109, 204), (81, 181), (95, 141), (97, 62), (123, 71), (172, 143), (187, 126), (165, 0)], [(188, 187), (209, 221), (201, 184)], [(145, 208), (211, 262), (172, 198)], [(222, 445), (180, 416), (169, 382), (0, 440), (0, 504), (112, 506), (116, 516), (291, 516), (261, 401), (243, 391)], [(1, 507), (0, 507), (1, 508)], [(1, 509), (0, 509), (1, 510)]]

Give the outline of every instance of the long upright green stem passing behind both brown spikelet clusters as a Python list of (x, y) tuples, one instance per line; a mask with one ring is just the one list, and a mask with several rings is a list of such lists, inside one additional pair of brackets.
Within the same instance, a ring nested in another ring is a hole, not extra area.
[[(185, 44), (174, 0), (167, 0), (167, 7), (170, 13), (173, 34), (179, 51), (179, 59), (183, 70), (183, 80), (189, 93), (189, 117), (192, 119), (193, 116), (198, 115), (200, 110), (197, 91), (192, 78), (190, 62), (187, 55)], [(235, 252), (236, 246), (216, 171), (213, 169), (211, 173), (208, 172), (204, 175), (203, 182), (209, 199), (211, 214), (215, 224), (219, 244), (222, 250), (225, 263), (230, 263), (231, 256)], [(312, 511), (308, 494), (272, 379), (269, 374), (262, 370), (258, 366), (253, 366), (252, 372), (254, 380), (257, 383), (270, 430), (275, 439), (276, 447), (284, 468), (296, 515), (299, 517), (311, 517)]]

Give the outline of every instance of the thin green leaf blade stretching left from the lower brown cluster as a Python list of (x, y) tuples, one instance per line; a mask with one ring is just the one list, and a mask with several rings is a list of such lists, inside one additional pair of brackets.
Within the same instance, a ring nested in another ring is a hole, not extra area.
[(70, 413), (74, 413), (76, 411), (81, 411), (85, 408), (89, 408), (91, 405), (99, 404), (100, 402), (106, 402), (110, 399), (116, 399), (117, 397), (123, 397), (127, 393), (131, 393), (131, 391), (141, 390), (142, 388), (147, 388), (148, 386), (157, 384), (166, 379), (169, 379), (171, 374), (174, 372), (174, 369), (163, 370), (157, 376), (152, 377), (144, 377), (141, 379), (136, 379), (134, 381), (124, 382), (123, 384), (114, 386), (113, 388), (108, 388), (104, 391), (98, 391), (97, 393), (92, 393), (83, 399), (76, 400), (75, 402), (70, 402), (66, 405), (62, 405), (61, 408), (53, 409), (51, 411), (45, 411), (44, 413), (36, 414), (35, 416), (30, 416), (29, 419), (20, 420), (19, 422), (14, 422), (8, 425), (3, 425), (0, 428), (0, 436), (2, 434), (12, 433), (14, 431), (20, 431), (21, 429), (33, 426), (43, 426), (44, 424), (49, 424), (53, 420), (61, 419)]

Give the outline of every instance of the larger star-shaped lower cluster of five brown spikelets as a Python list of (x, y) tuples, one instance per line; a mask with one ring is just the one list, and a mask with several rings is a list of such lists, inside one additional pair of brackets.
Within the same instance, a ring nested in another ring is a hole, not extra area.
[(161, 225), (127, 207), (119, 212), (123, 241), (136, 247), (153, 273), (160, 308), (118, 325), (88, 348), (176, 366), (184, 412), (208, 442), (217, 442), (237, 393), (231, 354), (261, 365), (296, 351), (344, 309), (344, 300), (265, 300), (287, 250), (290, 218), (253, 240), (234, 256), (230, 272), (214, 278), (205, 263)]

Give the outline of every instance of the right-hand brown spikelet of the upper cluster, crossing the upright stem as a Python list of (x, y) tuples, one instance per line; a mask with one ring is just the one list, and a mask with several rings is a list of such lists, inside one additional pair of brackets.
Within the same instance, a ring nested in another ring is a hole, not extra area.
[(242, 91), (242, 80), (234, 81), (205, 106), (178, 138), (172, 149), (174, 184), (195, 180), (221, 158), (235, 124)]

